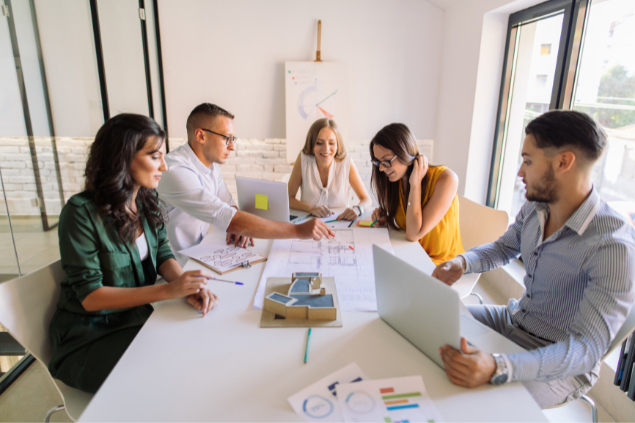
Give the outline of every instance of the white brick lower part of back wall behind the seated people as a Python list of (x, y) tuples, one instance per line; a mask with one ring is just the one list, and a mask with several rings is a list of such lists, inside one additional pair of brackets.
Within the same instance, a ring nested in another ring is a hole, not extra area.
[[(66, 199), (83, 189), (88, 148), (93, 140), (93, 138), (56, 137), (62, 187)], [(170, 138), (170, 148), (174, 149), (183, 145), (185, 141), (183, 138)], [(370, 192), (372, 165), (368, 153), (369, 142), (369, 140), (348, 141), (346, 150), (355, 160), (366, 189)], [(420, 151), (434, 162), (432, 140), (421, 140), (417, 143)], [(51, 139), (37, 137), (35, 147), (47, 213), (56, 215), (61, 208)], [(232, 153), (228, 162), (221, 166), (221, 171), (227, 187), (232, 195), (236, 196), (236, 175), (279, 181), (285, 174), (291, 173), (293, 168), (287, 163), (286, 157), (286, 140), (239, 139), (236, 151)], [(40, 211), (34, 205), (37, 192), (29, 143), (26, 138), (0, 138), (0, 169), (10, 213), (39, 215)], [(0, 203), (4, 207), (4, 198), (0, 200)]]

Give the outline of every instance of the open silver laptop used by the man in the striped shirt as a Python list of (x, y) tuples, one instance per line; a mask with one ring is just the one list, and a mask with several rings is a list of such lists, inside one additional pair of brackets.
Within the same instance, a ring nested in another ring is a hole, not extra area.
[(373, 245), (377, 312), (432, 361), (443, 367), (439, 347), (461, 349), (461, 336), (488, 353), (525, 350), (461, 311), (452, 288)]

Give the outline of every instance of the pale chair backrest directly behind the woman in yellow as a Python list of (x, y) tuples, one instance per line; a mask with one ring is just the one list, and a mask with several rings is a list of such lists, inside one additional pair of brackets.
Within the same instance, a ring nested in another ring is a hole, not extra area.
[(508, 223), (506, 211), (492, 209), (459, 196), (459, 226), (465, 250), (496, 241), (505, 233)]

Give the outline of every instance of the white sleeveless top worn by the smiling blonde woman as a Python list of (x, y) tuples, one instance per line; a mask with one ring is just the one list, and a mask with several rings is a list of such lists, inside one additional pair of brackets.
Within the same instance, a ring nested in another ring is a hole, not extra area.
[(351, 169), (351, 161), (350, 154), (347, 154), (341, 161), (334, 159), (329, 168), (328, 182), (324, 187), (320, 180), (315, 156), (301, 153), (302, 196), (300, 201), (313, 207), (348, 207), (351, 187), (348, 182), (348, 174)]

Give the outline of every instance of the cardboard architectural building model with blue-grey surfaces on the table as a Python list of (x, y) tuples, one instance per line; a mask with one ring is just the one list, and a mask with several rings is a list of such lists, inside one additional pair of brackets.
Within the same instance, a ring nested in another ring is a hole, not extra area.
[(321, 273), (294, 273), (288, 294), (269, 294), (265, 297), (263, 309), (285, 319), (337, 319), (333, 295), (327, 294), (322, 286)]

